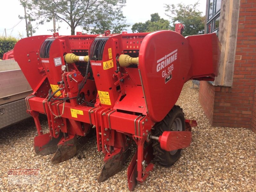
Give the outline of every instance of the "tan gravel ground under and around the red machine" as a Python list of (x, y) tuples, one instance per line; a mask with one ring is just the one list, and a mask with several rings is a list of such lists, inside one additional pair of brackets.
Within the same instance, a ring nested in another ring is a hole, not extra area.
[[(191, 86), (191, 81), (184, 85), (177, 102), (186, 118), (198, 123), (191, 146), (172, 167), (155, 164), (134, 191), (256, 191), (256, 135), (244, 128), (212, 127), (198, 102), (199, 90)], [(46, 119), (41, 123), (46, 130)], [(32, 119), (0, 130), (0, 191), (128, 191), (129, 162), (115, 176), (97, 182), (104, 156), (97, 152), (95, 138), (77, 156), (53, 165), (52, 155), (35, 154), (36, 135)], [(16, 168), (39, 169), (40, 180), (34, 185), (8, 183), (8, 170)]]

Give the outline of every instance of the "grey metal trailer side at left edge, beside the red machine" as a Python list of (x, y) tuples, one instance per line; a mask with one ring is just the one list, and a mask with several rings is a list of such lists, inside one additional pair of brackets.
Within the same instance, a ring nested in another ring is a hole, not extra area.
[(32, 89), (13, 59), (0, 60), (0, 90), (0, 129), (30, 117), (25, 98)]

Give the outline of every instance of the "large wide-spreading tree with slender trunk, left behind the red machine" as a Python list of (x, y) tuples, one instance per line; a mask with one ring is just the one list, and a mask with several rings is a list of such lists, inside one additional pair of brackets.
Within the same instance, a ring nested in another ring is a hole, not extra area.
[(124, 30), (125, 17), (122, 7), (126, 0), (20, 0), (31, 17), (39, 24), (50, 22), (55, 16), (58, 21), (66, 22), (75, 35), (78, 26), (88, 32), (102, 33), (105, 29), (115, 32)]

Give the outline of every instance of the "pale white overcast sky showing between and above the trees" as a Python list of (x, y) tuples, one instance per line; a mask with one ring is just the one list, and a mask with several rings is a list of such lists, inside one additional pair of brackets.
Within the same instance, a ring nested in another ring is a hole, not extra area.
[[(194, 4), (198, 0), (183, 0), (181, 3), (184, 4)], [(0, 12), (0, 35), (4, 34), (4, 28), (10, 29), (15, 26), (17, 23), (20, 22), (18, 18), (19, 15), (24, 15), (24, 8), (20, 5), (19, 0), (0, 0), (1, 2), (1, 12)], [(159, 13), (159, 15), (164, 18), (168, 19), (168, 17), (164, 14), (164, 4), (176, 4), (177, 1), (173, 0), (157, 0), (152, 1), (148, 0), (126, 0), (126, 6), (123, 8), (124, 16), (126, 16), (127, 24), (131, 26), (136, 22), (145, 22), (146, 20), (150, 19), (150, 14), (152, 13)], [(206, 0), (199, 0), (199, 7), (198, 9), (205, 14), (205, 6)], [(32, 22), (32, 26), (35, 26), (36, 23)], [(59, 23), (60, 35), (69, 35), (70, 28), (65, 23)], [(57, 24), (58, 26), (58, 24)], [(46, 23), (44, 26), (39, 25), (39, 28), (36, 30), (34, 35), (48, 35), (52, 34), (49, 29), (52, 29), (52, 22)], [(81, 28), (76, 28), (76, 31), (82, 31)], [(129, 29), (128, 32), (131, 32)], [(7, 30), (7, 36), (14, 36), (19, 37), (19, 33), (24, 37), (26, 37), (26, 24), (25, 20), (21, 21), (17, 26), (13, 29)]]

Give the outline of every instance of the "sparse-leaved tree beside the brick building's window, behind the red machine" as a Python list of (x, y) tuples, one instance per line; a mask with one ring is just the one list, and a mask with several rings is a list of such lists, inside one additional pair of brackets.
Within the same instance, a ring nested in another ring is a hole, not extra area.
[(204, 34), (205, 16), (197, 9), (198, 2), (195, 4), (165, 4), (166, 15), (172, 20), (173, 25), (177, 22), (184, 25), (183, 36)]

